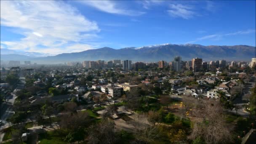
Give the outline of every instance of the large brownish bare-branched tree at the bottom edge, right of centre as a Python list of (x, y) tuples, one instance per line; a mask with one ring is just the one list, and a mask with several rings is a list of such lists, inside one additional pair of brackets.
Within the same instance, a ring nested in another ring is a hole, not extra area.
[(189, 139), (201, 136), (207, 144), (220, 144), (231, 141), (230, 131), (224, 119), (224, 108), (219, 102), (209, 101), (203, 103), (195, 111), (192, 133)]

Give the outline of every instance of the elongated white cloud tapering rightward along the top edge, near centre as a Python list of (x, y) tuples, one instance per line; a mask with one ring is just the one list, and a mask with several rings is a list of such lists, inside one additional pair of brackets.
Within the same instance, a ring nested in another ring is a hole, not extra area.
[(126, 8), (121, 8), (121, 5), (118, 5), (116, 3), (117, 1), (115, 0), (81, 0), (80, 2), (106, 13), (114, 13), (127, 16), (140, 16), (144, 14), (144, 12), (141, 11), (133, 11)]

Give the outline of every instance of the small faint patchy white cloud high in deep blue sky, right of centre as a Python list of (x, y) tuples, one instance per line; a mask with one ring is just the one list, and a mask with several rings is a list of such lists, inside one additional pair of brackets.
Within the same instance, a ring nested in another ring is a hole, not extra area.
[(170, 4), (168, 13), (172, 17), (181, 17), (183, 19), (190, 19), (197, 15), (192, 10), (192, 7), (182, 4)]

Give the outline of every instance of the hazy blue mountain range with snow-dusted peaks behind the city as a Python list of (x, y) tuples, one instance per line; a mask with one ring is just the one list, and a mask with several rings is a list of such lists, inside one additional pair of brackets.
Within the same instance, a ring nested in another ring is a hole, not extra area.
[[(46, 54), (47, 55), (47, 54)], [(49, 54), (48, 54), (49, 55)], [(219, 45), (196, 45), (196, 44), (162, 44), (149, 45), (140, 48), (130, 47), (114, 49), (109, 47), (91, 49), (77, 53), (61, 53), (56, 56), (35, 56), (25, 55), (24, 53), (13, 54), (3, 53), (1, 49), (1, 60), (31, 60), (37, 63), (60, 63), (67, 61), (86, 61), (86, 60), (113, 60), (113, 59), (129, 59), (132, 61), (172, 61), (174, 56), (181, 56), (182, 60), (191, 60), (199, 57), (203, 61), (210, 60), (244, 60), (248, 61), (256, 57), (256, 47), (249, 45), (233, 45), (233, 46), (219, 46)]]

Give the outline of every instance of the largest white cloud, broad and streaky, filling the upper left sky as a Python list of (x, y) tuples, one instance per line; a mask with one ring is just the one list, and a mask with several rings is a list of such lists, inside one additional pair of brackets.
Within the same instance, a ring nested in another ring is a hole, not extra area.
[(61, 1), (1, 0), (0, 6), (1, 25), (19, 28), (22, 33), (17, 33), (25, 36), (17, 41), (1, 41), (9, 49), (62, 53), (64, 45), (90, 41), (100, 31), (95, 21)]

